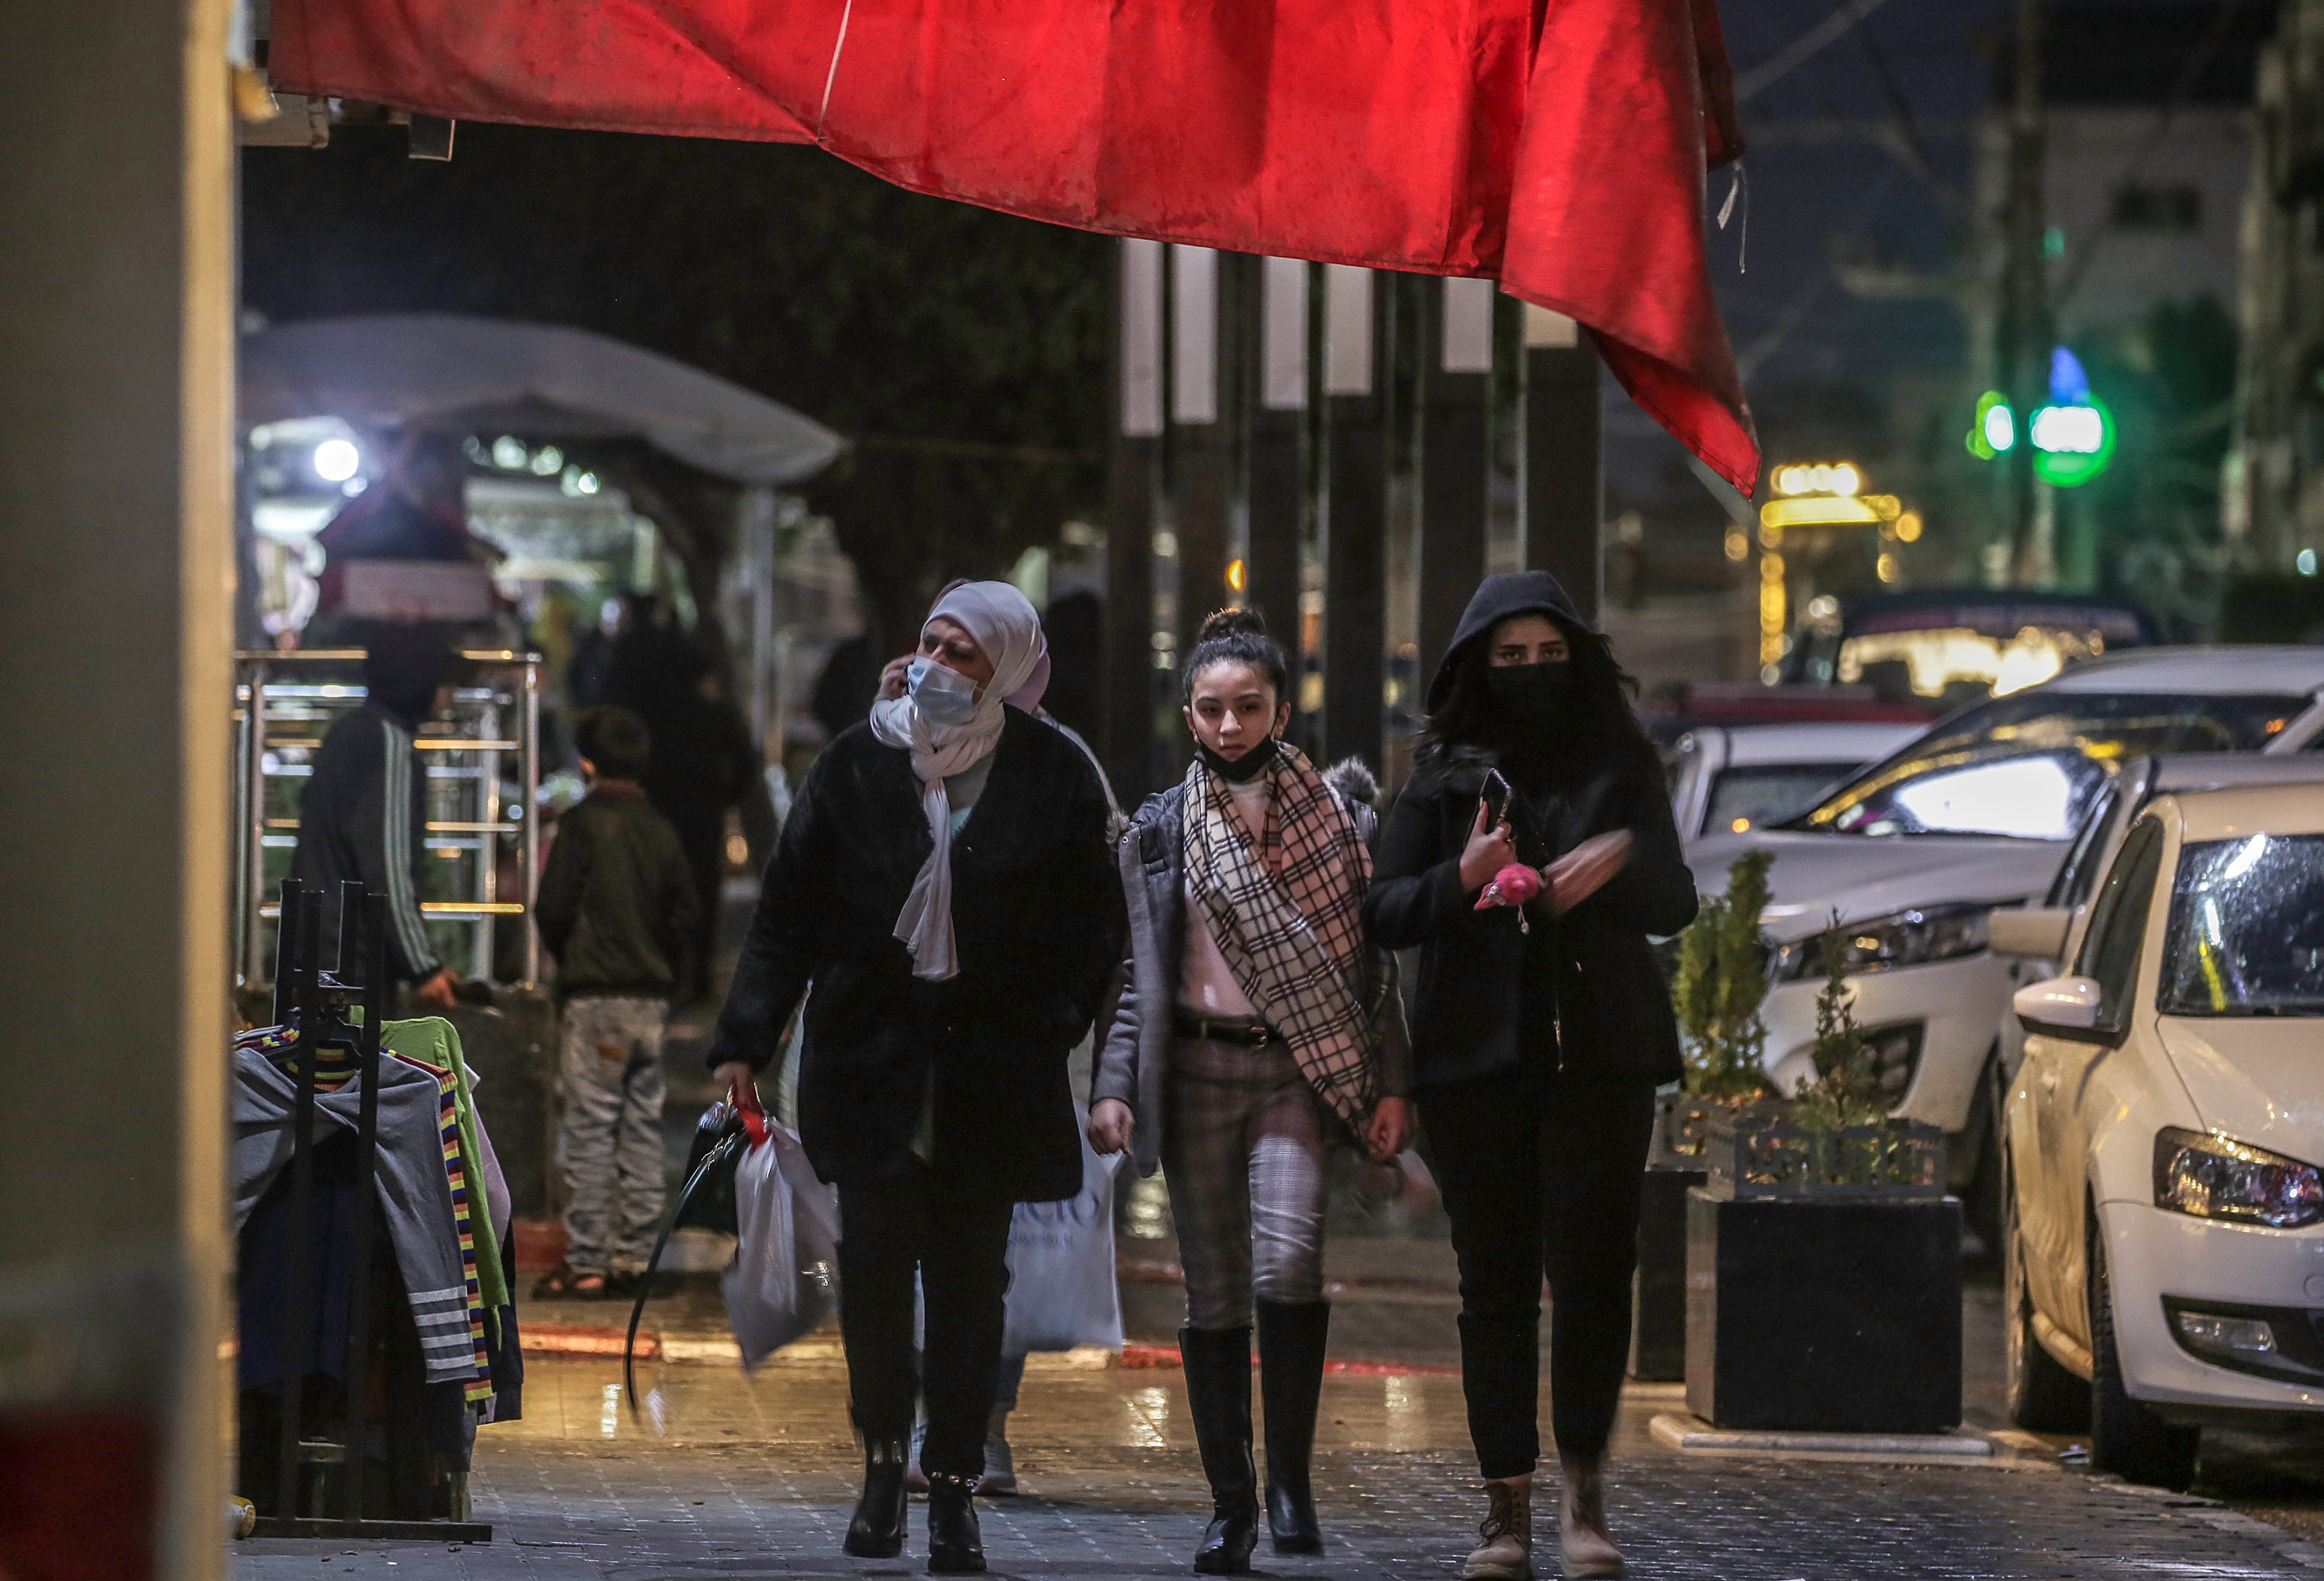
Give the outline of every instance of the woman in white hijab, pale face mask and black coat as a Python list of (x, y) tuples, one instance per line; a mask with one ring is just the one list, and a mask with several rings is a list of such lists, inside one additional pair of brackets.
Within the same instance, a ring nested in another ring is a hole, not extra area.
[[(846, 1551), (904, 1544), (927, 1402), (927, 1567), (985, 1567), (983, 1472), (1018, 1202), (1081, 1190), (1067, 1053), (1120, 958), (1122, 893), (1090, 758), (1032, 716), (1034, 607), (948, 588), (871, 718), (809, 770), (767, 867), (709, 1063), (751, 1081), (802, 995), (799, 1137), (839, 1186), (839, 1328), (865, 1495)], [(916, 1276), (925, 1383), (916, 1376)]]

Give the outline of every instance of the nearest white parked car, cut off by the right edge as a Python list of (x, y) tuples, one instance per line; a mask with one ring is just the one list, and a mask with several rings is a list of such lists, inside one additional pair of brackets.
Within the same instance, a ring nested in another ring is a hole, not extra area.
[(2013, 1000), (2010, 1414), (2185, 1488), (2205, 1423), (2324, 1418), (2324, 763), (2154, 795), (2071, 963)]

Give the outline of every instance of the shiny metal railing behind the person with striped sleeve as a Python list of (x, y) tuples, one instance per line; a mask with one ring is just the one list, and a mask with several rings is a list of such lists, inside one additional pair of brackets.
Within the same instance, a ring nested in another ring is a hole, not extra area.
[[(235, 981), (265, 981), (267, 923), (281, 907), (267, 902), (274, 888), (267, 872), (270, 851), (297, 846), (297, 816), (270, 809), (267, 788), (311, 774), (304, 763), (323, 744), (332, 718), (363, 704), (363, 681), (356, 679), (363, 649), (267, 649), (235, 653)], [(521, 918), (525, 930), (523, 981), (541, 974), (541, 939), (532, 918), (532, 897), (541, 879), (539, 788), (541, 788), (541, 658), (509, 649), (469, 649), (460, 658), (479, 665), (483, 684), (465, 686), (453, 702), (453, 735), (423, 735), (414, 742), (428, 753), (430, 814), (465, 811), (467, 816), (430, 816), (428, 844), (439, 858), (474, 856), (467, 895), (458, 900), (423, 900), (428, 921), (469, 923), (469, 977), (490, 979), (500, 918)], [(316, 681), (314, 674), (349, 670), (349, 681)], [(284, 679), (297, 677), (297, 679)], [(253, 707), (256, 700), (256, 707)], [(514, 725), (514, 730), (509, 728)], [(502, 791), (502, 758), (516, 753), (514, 795)], [(516, 900), (500, 895), (500, 853), (516, 844)], [(279, 863), (281, 865), (281, 863)]]

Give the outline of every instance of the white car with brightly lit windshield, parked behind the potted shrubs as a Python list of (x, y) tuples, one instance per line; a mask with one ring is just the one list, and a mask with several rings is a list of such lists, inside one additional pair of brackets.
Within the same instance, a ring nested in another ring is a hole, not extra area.
[(1987, 1239), (2001, 1214), (1996, 1028), (2015, 988), (1987, 951), (1994, 907), (2040, 900), (2119, 765), (2147, 753), (2296, 753), (2324, 737), (2324, 649), (2133, 649), (1938, 721), (1780, 828), (1687, 849), (1706, 893), (1776, 853), (1762, 1009), (1785, 1093), (1813, 1074), (1815, 935), (1838, 914), (1857, 1023), (1896, 1114), (1952, 1135), (1952, 1186)]

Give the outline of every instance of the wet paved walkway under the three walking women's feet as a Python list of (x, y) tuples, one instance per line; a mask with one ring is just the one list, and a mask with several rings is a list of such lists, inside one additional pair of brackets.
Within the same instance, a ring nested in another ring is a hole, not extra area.
[[(855, 1493), (846, 1369), (797, 1360), (641, 1369), (662, 1430), (632, 1418), (614, 1360), (532, 1362), (528, 1416), (486, 1428), (476, 1518), (490, 1544), (232, 1546), (237, 1581), (281, 1576), (899, 1576), (925, 1567), (920, 1509), (899, 1560), (839, 1553)], [(2029, 1458), (1975, 1467), (1683, 1455), (1648, 1435), (1673, 1386), (1634, 1388), (1611, 1518), (1636, 1576), (2222, 1576), (2312, 1581), (2324, 1546), (2210, 1500), (2154, 1495)], [(1013, 1576), (1188, 1572), (1204, 1490), (1174, 1369), (1032, 1369), (1011, 1418), (1023, 1497), (981, 1500), (992, 1569)], [(1329, 1548), (1269, 1576), (1452, 1576), (1480, 1509), (1459, 1379), (1336, 1374), (1318, 1428)], [(1552, 1495), (1536, 1507), (1555, 1555)]]

